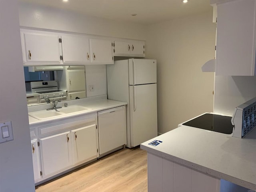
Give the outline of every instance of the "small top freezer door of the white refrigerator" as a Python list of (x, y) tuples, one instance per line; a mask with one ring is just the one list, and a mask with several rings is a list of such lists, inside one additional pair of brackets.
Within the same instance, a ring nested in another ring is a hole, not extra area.
[(129, 85), (156, 83), (156, 60), (129, 59)]

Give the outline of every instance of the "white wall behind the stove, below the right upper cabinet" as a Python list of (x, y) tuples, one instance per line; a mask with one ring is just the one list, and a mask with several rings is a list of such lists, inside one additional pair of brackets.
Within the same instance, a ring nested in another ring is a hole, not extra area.
[(256, 76), (216, 76), (214, 112), (233, 115), (235, 107), (256, 97)]

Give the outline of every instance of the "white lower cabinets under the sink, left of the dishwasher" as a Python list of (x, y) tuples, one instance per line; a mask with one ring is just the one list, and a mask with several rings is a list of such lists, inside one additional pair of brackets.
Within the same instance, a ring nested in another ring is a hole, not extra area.
[[(31, 126), (35, 184), (99, 157), (97, 113)], [(39, 147), (38, 147), (39, 146)]]

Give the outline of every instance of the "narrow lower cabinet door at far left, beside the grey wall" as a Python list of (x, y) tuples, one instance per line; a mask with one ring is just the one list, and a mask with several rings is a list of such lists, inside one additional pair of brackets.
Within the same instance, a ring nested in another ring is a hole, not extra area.
[(40, 175), (40, 158), (39, 158), (39, 148), (37, 144), (37, 139), (31, 140), (31, 150), (32, 150), (32, 160), (34, 169), (34, 180), (35, 183), (41, 178)]

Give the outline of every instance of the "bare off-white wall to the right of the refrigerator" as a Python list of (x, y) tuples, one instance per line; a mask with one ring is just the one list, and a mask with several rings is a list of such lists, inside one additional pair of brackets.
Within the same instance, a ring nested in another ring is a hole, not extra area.
[(214, 58), (215, 33), (212, 12), (148, 27), (146, 58), (157, 59), (158, 132), (213, 111), (214, 73), (201, 67)]

